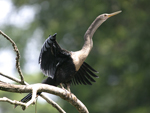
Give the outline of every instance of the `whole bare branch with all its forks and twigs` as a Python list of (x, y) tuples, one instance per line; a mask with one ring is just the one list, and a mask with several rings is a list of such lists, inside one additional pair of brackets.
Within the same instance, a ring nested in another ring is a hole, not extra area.
[[(0, 34), (2, 34), (8, 41), (10, 41), (12, 43), (14, 51), (16, 52), (16, 68), (18, 70), (18, 73), (19, 73), (21, 80), (18, 78), (15, 78), (15, 77), (5, 75), (3, 73), (0, 73), (0, 75), (3, 77), (6, 77), (12, 81), (15, 81), (19, 84), (22, 84), (22, 85), (13, 85), (13, 84), (8, 84), (8, 83), (0, 81), (0, 90), (8, 91), (8, 92), (17, 92), (17, 93), (32, 92), (32, 98), (27, 103), (19, 102), (16, 100), (10, 100), (7, 97), (0, 98), (0, 102), (9, 102), (10, 104), (20, 105), (20, 106), (22, 106), (22, 109), (25, 110), (29, 105), (35, 103), (37, 92), (47, 92), (47, 93), (51, 93), (51, 94), (60, 96), (64, 100), (67, 100), (80, 113), (89, 113), (87, 108), (84, 106), (84, 104), (80, 100), (78, 100), (75, 95), (71, 94), (67, 90), (63, 90), (63, 89), (60, 89), (58, 87), (45, 85), (45, 84), (28, 85), (28, 83), (26, 83), (24, 81), (24, 77), (23, 77), (22, 71), (20, 69), (20, 62), (19, 62), (20, 53), (19, 53), (19, 50), (18, 50), (15, 42), (10, 37), (8, 37), (5, 33), (3, 33), (1, 30), (0, 30)], [(49, 104), (51, 104), (53, 107), (55, 107), (60, 113), (66, 113), (57, 103), (55, 103), (54, 101), (52, 101), (51, 99), (49, 99), (45, 95), (41, 94), (40, 96), (43, 99), (45, 99)]]

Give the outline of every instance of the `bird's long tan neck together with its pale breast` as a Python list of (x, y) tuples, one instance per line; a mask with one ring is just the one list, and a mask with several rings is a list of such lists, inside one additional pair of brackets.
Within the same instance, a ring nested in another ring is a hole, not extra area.
[(92, 37), (97, 30), (97, 28), (103, 23), (103, 20), (100, 20), (99, 16), (93, 21), (93, 23), (90, 25), (90, 27), (87, 29), (85, 35), (84, 35), (84, 45), (81, 50), (72, 52), (72, 59), (76, 67), (76, 71), (79, 70), (80, 66), (83, 64), (84, 60), (89, 55), (92, 47), (93, 47), (93, 41)]

